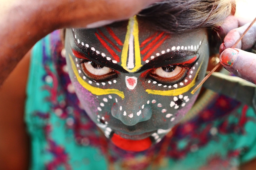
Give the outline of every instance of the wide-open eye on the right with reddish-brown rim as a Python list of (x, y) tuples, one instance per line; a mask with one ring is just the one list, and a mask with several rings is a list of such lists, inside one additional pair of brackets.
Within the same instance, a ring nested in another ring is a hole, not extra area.
[(188, 71), (189, 68), (183, 65), (168, 65), (151, 70), (148, 78), (151, 78), (158, 83), (172, 85), (182, 81), (186, 77)]

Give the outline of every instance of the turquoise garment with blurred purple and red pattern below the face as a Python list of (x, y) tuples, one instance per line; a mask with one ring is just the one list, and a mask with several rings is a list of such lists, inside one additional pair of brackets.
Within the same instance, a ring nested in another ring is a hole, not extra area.
[(55, 31), (31, 54), (25, 110), (31, 170), (235, 170), (256, 157), (253, 109), (221, 95), (150, 149), (117, 148), (81, 109), (62, 48)]

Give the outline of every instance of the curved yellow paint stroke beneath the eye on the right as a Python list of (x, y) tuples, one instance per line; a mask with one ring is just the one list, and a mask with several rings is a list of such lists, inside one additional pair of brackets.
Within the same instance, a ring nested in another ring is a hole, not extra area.
[(149, 94), (153, 94), (153, 95), (162, 95), (162, 96), (177, 96), (177, 95), (181, 95), (183, 93), (186, 93), (188, 92), (188, 90), (190, 90), (193, 86), (195, 86), (195, 79), (199, 73), (199, 70), (201, 68), (203, 64), (203, 61), (202, 63), (200, 64), (200, 66), (198, 67), (198, 70), (195, 74), (195, 77), (194, 79), (191, 81), (191, 83), (189, 83), (187, 86), (185, 87), (182, 87), (182, 88), (179, 88), (179, 89), (174, 89), (174, 90), (167, 90), (167, 91), (163, 91), (163, 90), (151, 90), (151, 89), (147, 89), (146, 92), (149, 93)]

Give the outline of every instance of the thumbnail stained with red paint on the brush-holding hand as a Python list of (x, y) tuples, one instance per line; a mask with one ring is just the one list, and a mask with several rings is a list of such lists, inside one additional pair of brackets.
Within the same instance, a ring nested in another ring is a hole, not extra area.
[(222, 54), (220, 54), (220, 63), (225, 66), (233, 66), (238, 55), (238, 51), (232, 48), (225, 49)]

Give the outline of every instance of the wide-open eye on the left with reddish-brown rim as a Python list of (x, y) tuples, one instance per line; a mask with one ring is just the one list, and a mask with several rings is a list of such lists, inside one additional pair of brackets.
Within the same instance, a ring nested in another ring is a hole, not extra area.
[(90, 60), (81, 61), (81, 68), (88, 78), (99, 82), (107, 81), (111, 78), (117, 77), (115, 70)]

